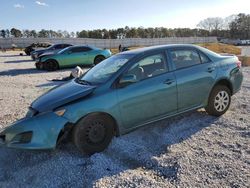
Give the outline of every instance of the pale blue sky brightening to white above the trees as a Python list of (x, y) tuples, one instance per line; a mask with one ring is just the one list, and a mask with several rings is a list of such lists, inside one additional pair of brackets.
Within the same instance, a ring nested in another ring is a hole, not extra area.
[(250, 14), (250, 0), (0, 0), (0, 29), (195, 28), (238, 13)]

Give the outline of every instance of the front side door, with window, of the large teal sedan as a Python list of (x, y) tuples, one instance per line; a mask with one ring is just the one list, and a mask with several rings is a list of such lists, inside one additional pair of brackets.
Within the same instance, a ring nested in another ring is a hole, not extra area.
[(175, 113), (176, 82), (168, 71), (164, 53), (143, 57), (123, 75), (134, 75), (135, 83), (117, 89), (117, 97), (126, 129)]

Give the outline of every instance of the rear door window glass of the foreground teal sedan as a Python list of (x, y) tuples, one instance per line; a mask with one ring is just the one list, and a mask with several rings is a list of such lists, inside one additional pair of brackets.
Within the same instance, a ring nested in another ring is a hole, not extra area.
[(176, 69), (201, 64), (200, 56), (195, 50), (172, 50), (170, 53), (172, 62), (175, 64)]

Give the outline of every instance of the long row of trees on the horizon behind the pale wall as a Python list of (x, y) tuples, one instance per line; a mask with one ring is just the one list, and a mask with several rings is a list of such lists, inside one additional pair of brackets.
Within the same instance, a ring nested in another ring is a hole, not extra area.
[(82, 30), (80, 32), (53, 31), (42, 29), (36, 30), (0, 30), (2, 38), (96, 38), (96, 39), (117, 39), (117, 38), (165, 38), (165, 37), (208, 37), (217, 36), (220, 38), (249, 39), (250, 38), (250, 14), (232, 15), (227, 18), (211, 17), (201, 20), (197, 28), (176, 28), (164, 27), (143, 28), (124, 27), (118, 29), (95, 29)]

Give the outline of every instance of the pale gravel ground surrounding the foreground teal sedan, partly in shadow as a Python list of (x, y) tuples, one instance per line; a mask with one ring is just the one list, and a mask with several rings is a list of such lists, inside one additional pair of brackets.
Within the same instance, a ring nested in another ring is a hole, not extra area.
[[(0, 52), (0, 128), (57, 85), (19, 52)], [(250, 187), (250, 68), (242, 89), (220, 118), (186, 113), (113, 139), (102, 153), (71, 144), (54, 151), (0, 148), (0, 187)]]

